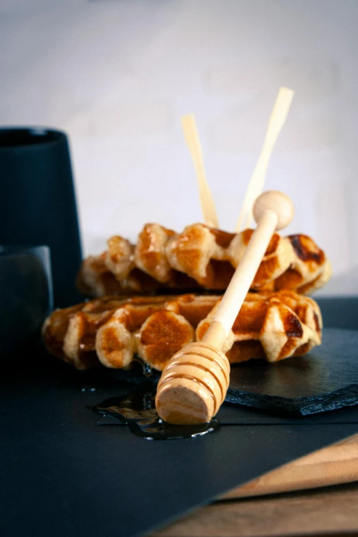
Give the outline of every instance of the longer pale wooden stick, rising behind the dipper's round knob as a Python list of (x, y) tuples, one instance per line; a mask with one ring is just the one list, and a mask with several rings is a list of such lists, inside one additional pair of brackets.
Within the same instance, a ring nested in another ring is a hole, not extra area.
[(252, 224), (252, 206), (254, 204), (254, 200), (256, 200), (256, 198), (263, 191), (270, 157), (272, 151), (274, 150), (276, 140), (278, 139), (278, 134), (280, 134), (285, 124), (293, 98), (294, 91), (291, 89), (280, 88), (280, 91), (278, 91), (274, 108), (272, 109), (267, 125), (266, 136), (261, 149), (261, 154), (250, 178), (245, 198), (243, 198), (239, 219), (237, 220), (235, 227), (235, 231), (237, 232), (249, 228)]

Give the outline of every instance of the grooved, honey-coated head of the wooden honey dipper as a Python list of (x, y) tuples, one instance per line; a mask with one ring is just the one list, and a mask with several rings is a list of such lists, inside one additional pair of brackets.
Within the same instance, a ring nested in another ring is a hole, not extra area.
[(191, 343), (171, 358), (156, 392), (156, 410), (174, 425), (197, 425), (215, 416), (228, 390), (230, 366), (221, 350)]

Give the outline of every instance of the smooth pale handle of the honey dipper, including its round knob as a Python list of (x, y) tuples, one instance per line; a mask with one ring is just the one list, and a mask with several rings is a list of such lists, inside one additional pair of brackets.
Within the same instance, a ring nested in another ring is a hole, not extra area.
[(219, 349), (224, 346), (274, 231), (287, 226), (293, 215), (294, 206), (291, 200), (281, 192), (268, 191), (257, 198), (254, 203), (256, 230), (202, 339), (203, 342)]

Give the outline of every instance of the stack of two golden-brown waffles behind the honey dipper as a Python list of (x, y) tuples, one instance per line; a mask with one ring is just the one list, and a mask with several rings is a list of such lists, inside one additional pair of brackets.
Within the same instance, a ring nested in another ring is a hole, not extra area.
[[(54, 311), (43, 326), (47, 348), (77, 369), (130, 368), (140, 357), (163, 370), (184, 344), (202, 339), (221, 298), (203, 292), (226, 289), (251, 235), (203, 224), (178, 235), (147, 224), (135, 246), (110, 238), (108, 250), (85, 259), (77, 278), (84, 294), (99, 298)], [(330, 275), (312, 239), (275, 233), (226, 340), (229, 361), (273, 362), (319, 345), (320, 309), (304, 295)]]

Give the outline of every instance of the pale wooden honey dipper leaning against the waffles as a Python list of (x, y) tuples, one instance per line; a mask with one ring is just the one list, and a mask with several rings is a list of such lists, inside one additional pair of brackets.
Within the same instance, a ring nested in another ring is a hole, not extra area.
[(257, 227), (201, 342), (184, 346), (163, 370), (156, 392), (160, 418), (174, 425), (209, 422), (224, 402), (230, 365), (222, 352), (228, 333), (275, 230), (285, 228), (294, 206), (281, 192), (267, 191), (253, 207)]

